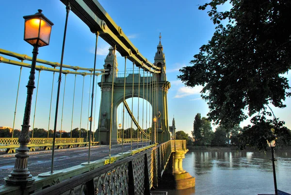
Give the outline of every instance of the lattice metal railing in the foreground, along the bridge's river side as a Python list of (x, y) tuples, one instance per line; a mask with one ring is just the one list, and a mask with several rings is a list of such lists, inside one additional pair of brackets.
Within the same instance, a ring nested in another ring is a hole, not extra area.
[[(176, 149), (186, 149), (186, 142), (153, 144), (55, 174), (40, 174), (28, 191), (32, 195), (149, 195)], [(20, 187), (0, 187), (0, 195), (17, 194)]]

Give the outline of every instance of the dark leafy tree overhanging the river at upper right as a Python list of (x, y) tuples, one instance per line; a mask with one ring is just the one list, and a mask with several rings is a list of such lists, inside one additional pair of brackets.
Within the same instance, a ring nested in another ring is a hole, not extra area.
[[(201, 96), (210, 108), (208, 117), (216, 124), (232, 128), (259, 113), (252, 119), (254, 125), (244, 130), (253, 132), (265, 121), (278, 132), (282, 126), (277, 124), (282, 122), (269, 105), (283, 108), (283, 101), (291, 96), (283, 75), (291, 69), (291, 1), (229, 0), (233, 7), (218, 12), (217, 6), (226, 1), (199, 6), (201, 10), (210, 8), (216, 30), (194, 55), (193, 66), (182, 68), (178, 78), (189, 87), (203, 86)], [(223, 25), (225, 19), (228, 23)], [(266, 116), (273, 119), (267, 122)], [(266, 141), (272, 133), (263, 131)]]

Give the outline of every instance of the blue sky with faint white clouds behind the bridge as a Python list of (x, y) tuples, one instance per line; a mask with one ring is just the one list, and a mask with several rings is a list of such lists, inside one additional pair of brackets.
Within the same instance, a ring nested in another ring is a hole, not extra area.
[[(172, 123), (175, 115), (177, 130), (183, 130), (189, 135), (193, 130), (194, 117), (197, 113), (206, 116), (209, 109), (205, 101), (201, 100), (199, 91), (201, 87), (187, 88), (178, 79), (179, 69), (188, 66), (194, 54), (199, 48), (208, 42), (213, 35), (215, 26), (210, 21), (206, 11), (198, 10), (198, 5), (205, 0), (99, 0), (107, 13), (120, 26), (131, 42), (139, 49), (147, 59), (153, 62), (154, 55), (159, 43), (159, 34), (162, 33), (163, 51), (166, 56), (167, 79), (171, 82), (171, 89), (168, 92), (168, 115)], [(224, 9), (229, 5), (225, 5)], [(59, 0), (16, 0), (1, 2), (0, 12), (0, 48), (16, 53), (23, 53), (32, 56), (32, 46), (23, 40), (24, 19), (23, 16), (32, 15), (37, 9), (42, 9), (43, 14), (49, 18), (54, 26), (50, 37), (49, 46), (39, 49), (38, 58), (53, 62), (61, 59), (62, 40), (65, 24), (65, 5)], [(65, 45), (64, 64), (92, 68), (94, 62), (95, 35), (89, 28), (70, 12), (68, 20), (67, 38)], [(101, 38), (98, 40), (97, 68), (103, 68), (104, 58), (108, 53), (109, 45)], [(0, 55), (3, 56), (3, 55)], [(6, 57), (6, 56), (4, 56)], [(7, 57), (8, 58), (8, 57)], [(11, 58), (10, 58), (11, 59)], [(124, 70), (124, 58), (117, 55), (118, 69)], [(30, 63), (29, 61), (26, 61)], [(128, 66), (131, 63), (128, 63)], [(29, 70), (23, 69), (21, 75), (19, 98), (17, 105), (15, 128), (20, 129), (23, 119), (23, 111), (26, 97), (26, 88)], [(0, 63), (0, 126), (13, 125), (16, 89), (18, 84), (19, 67)], [(35, 74), (36, 82), (38, 73)], [(57, 74), (56, 74), (57, 76)], [(287, 75), (290, 78), (290, 75)], [(99, 80), (100, 78), (98, 78)], [(63, 80), (64, 81), (64, 80)], [(52, 101), (56, 98), (56, 78)], [(37, 84), (37, 83), (36, 83)], [(37, 109), (35, 115), (35, 127), (47, 129), (49, 119), (49, 101), (52, 84), (52, 73), (41, 71)], [(81, 112), (81, 88), (82, 76), (77, 76), (75, 107), (73, 115), (73, 128), (87, 124), (88, 99), (89, 99), (89, 76), (86, 76), (84, 87), (83, 114)], [(61, 98), (63, 97), (63, 85)], [(65, 89), (65, 105), (63, 126), (69, 129), (71, 126), (72, 94), (74, 87), (74, 76), (67, 76)], [(100, 101), (97, 89), (97, 103)], [(31, 126), (35, 104), (34, 90), (32, 102)], [(62, 100), (61, 100), (62, 103)], [(291, 114), (288, 111), (291, 105), (290, 98), (286, 101), (287, 108), (274, 109), (276, 117), (286, 121), (287, 127), (291, 128)], [(54, 103), (52, 104), (54, 105)], [(52, 106), (54, 107), (54, 106)], [(62, 105), (60, 106), (62, 110)], [(97, 104), (97, 114), (99, 106)], [(61, 112), (59, 112), (60, 122)], [(54, 109), (51, 111), (50, 128), (53, 128)], [(242, 125), (248, 124), (248, 120)], [(63, 127), (63, 128), (64, 128)], [(59, 128), (58, 128), (59, 129)]]

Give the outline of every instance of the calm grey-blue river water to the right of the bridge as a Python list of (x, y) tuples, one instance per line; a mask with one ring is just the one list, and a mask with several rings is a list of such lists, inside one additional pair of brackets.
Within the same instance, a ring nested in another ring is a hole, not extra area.
[[(162, 190), (168, 195), (275, 194), (271, 152), (189, 151), (183, 169), (195, 177), (188, 190)], [(291, 151), (275, 151), (277, 188), (291, 194)]]

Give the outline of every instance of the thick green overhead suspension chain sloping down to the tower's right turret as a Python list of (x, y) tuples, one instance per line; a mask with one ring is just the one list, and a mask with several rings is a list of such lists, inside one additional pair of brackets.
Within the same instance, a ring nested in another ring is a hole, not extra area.
[[(67, 0), (61, 0), (68, 5)], [(160, 73), (161, 68), (150, 63), (138, 49), (122, 33), (113, 19), (107, 14), (97, 0), (70, 0), (72, 12), (74, 12), (93, 33), (99, 32), (100, 36), (116, 50), (142, 69), (154, 73)], [(101, 19), (100, 19), (101, 18)]]

